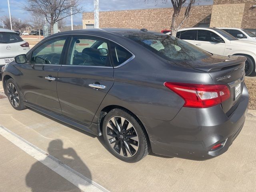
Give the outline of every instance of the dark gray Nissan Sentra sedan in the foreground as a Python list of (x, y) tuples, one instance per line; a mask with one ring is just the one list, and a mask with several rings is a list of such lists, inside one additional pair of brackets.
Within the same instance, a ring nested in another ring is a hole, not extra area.
[(16, 110), (33, 108), (103, 135), (126, 162), (155, 154), (207, 160), (247, 114), (242, 56), (219, 56), (146, 29), (51, 35), (2, 68)]

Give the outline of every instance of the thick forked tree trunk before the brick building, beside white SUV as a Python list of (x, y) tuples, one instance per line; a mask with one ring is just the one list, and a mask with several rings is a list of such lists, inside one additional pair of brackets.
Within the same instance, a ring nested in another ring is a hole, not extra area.
[[(144, 0), (144, 2), (148, 2), (150, 0)], [(168, 0), (159, 0), (162, 3), (166, 4)], [(176, 36), (176, 33), (178, 30), (182, 27), (184, 22), (188, 19), (190, 16), (190, 11), (192, 6), (195, 4), (195, 0), (170, 0), (173, 6), (173, 14), (172, 14), (172, 24), (171, 24), (171, 30), (172, 30), (172, 36)], [(208, 1), (208, 0), (206, 0)], [(154, 0), (156, 4), (158, 4), (158, 0)], [(200, 2), (200, 0), (198, 1)], [(184, 7), (185, 12), (184, 14), (181, 14), (181, 10)]]

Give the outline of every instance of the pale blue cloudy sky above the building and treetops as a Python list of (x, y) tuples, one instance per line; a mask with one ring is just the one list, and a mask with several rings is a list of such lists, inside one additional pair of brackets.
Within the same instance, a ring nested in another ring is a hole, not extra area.
[[(113, 10), (128, 10), (128, 9), (147, 9), (147, 8), (168, 8), (171, 7), (171, 2), (168, 0), (166, 4), (162, 0), (99, 0), (100, 11), (113, 11)], [(11, 15), (17, 18), (30, 20), (30, 14), (22, 9), (26, 0), (9, 0)], [(211, 5), (213, 0), (197, 0), (196, 5)], [(93, 0), (80, 0), (80, 6), (83, 7), (84, 12), (92, 12)], [(0, 16), (8, 15), (7, 0), (1, 0)], [(82, 14), (73, 16), (73, 23), (75, 25), (82, 24)], [(70, 18), (66, 19), (66, 24), (70, 24)]]

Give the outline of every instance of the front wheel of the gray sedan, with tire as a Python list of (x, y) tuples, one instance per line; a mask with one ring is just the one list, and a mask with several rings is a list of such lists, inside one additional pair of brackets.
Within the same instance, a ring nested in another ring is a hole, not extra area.
[(24, 104), (23, 96), (18, 89), (17, 84), (13, 79), (8, 79), (6, 82), (6, 93), (10, 104), (16, 110), (24, 110), (27, 107)]

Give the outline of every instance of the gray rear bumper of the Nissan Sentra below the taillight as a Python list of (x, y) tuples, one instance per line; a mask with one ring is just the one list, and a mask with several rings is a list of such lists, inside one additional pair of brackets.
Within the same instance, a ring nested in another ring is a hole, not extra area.
[[(207, 160), (226, 152), (238, 136), (247, 116), (248, 90), (244, 85), (236, 109), (227, 116), (221, 105), (196, 109), (182, 108), (171, 121), (142, 118), (152, 152), (191, 160)], [(223, 147), (210, 150), (224, 142)]]

